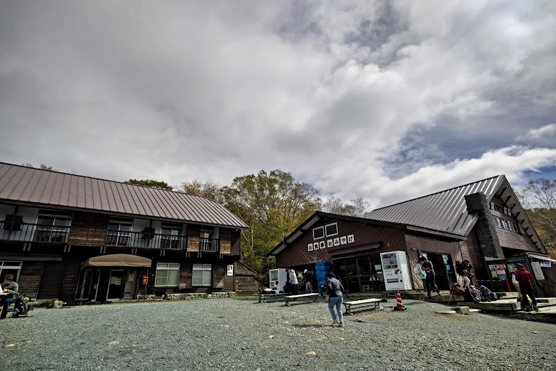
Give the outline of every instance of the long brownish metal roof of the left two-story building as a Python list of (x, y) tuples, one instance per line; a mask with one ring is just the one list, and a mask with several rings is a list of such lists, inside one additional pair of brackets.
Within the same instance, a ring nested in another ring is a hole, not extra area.
[(0, 200), (247, 228), (205, 197), (8, 163), (0, 163)]

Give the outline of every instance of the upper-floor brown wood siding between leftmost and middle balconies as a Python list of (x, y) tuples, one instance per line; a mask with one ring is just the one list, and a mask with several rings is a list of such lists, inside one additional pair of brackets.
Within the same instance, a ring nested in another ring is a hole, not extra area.
[(108, 215), (75, 213), (68, 245), (103, 246), (108, 229)]

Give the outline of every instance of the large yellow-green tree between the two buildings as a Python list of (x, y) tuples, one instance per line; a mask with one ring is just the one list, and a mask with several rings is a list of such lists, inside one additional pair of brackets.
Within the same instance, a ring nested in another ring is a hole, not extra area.
[(224, 205), (250, 226), (242, 231), (242, 261), (259, 272), (257, 279), (263, 284), (274, 267), (265, 255), (320, 208), (313, 186), (281, 170), (238, 176), (222, 188), (222, 197)]

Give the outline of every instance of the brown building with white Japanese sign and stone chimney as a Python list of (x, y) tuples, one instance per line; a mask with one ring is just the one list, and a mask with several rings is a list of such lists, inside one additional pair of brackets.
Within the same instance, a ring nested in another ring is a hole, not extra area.
[[(393, 251), (406, 252), (411, 267), (419, 256), (427, 256), (441, 290), (461, 283), (456, 261), (468, 260), (485, 285), (506, 288), (502, 274), (493, 277), (489, 260), (519, 254), (548, 258), (503, 175), (379, 208), (368, 218), (318, 211), (268, 256), (276, 258), (277, 267), (296, 270), (314, 270), (315, 263), (331, 261), (350, 291), (361, 292), (384, 290), (379, 254)], [(423, 288), (413, 269), (411, 275), (413, 288)]]

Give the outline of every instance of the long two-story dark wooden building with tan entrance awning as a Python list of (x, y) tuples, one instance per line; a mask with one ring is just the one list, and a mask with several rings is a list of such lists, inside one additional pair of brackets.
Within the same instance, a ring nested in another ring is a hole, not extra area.
[(197, 195), (0, 163), (0, 275), (38, 299), (256, 292), (245, 228)]

